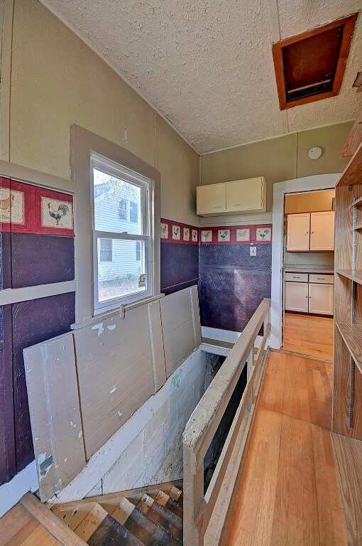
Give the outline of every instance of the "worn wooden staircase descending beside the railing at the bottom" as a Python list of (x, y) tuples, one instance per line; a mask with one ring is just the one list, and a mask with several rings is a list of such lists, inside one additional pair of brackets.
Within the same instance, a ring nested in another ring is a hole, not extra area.
[(89, 546), (182, 545), (182, 482), (51, 507)]

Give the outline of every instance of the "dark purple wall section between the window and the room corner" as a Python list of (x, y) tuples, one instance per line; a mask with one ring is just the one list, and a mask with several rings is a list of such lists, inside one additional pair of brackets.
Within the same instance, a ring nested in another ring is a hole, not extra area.
[(161, 242), (161, 292), (172, 294), (199, 280), (199, 246)]

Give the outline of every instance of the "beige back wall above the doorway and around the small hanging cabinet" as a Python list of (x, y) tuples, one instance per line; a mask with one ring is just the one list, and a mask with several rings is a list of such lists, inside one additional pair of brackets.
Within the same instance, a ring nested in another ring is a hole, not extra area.
[[(351, 127), (352, 122), (330, 125), (204, 155), (202, 184), (264, 176), (267, 183), (267, 213), (264, 218), (270, 219), (274, 183), (344, 170), (348, 159), (339, 159), (339, 156)], [(323, 151), (322, 156), (314, 161), (308, 157), (308, 151), (313, 146), (319, 146)], [(243, 215), (232, 217), (232, 220), (248, 222), (252, 218), (253, 215)], [(259, 215), (258, 220), (261, 218)], [(203, 218), (202, 223), (210, 223), (210, 220)], [(231, 217), (219, 221), (230, 222)]]

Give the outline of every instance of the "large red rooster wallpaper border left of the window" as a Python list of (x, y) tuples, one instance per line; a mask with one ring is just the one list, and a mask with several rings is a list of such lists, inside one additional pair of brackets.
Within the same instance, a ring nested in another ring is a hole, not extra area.
[[(18, 201), (14, 194), (18, 193), (23, 194), (21, 222), (18, 210), (14, 222), (11, 210)], [(0, 176), (0, 231), (74, 237), (73, 196)]]

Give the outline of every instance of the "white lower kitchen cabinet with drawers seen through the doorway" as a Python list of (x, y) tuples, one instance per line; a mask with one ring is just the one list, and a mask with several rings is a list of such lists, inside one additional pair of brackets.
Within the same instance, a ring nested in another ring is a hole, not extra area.
[(333, 282), (331, 274), (285, 273), (285, 311), (333, 315)]

